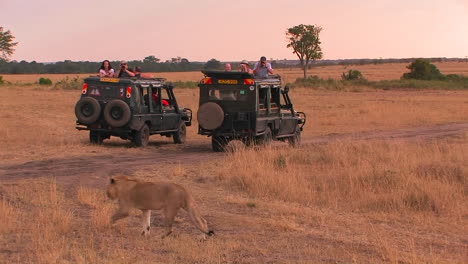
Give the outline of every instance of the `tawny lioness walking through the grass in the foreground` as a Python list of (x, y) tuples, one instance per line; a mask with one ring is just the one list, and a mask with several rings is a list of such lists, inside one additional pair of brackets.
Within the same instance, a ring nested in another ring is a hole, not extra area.
[(126, 176), (114, 176), (107, 186), (107, 196), (118, 200), (119, 208), (111, 218), (111, 223), (128, 216), (130, 208), (143, 212), (143, 232), (148, 235), (150, 230), (151, 210), (163, 210), (166, 237), (172, 233), (172, 223), (180, 208), (188, 212), (192, 223), (204, 234), (209, 236), (214, 232), (208, 229), (206, 220), (200, 216), (195, 203), (184, 187), (174, 183), (142, 182)]

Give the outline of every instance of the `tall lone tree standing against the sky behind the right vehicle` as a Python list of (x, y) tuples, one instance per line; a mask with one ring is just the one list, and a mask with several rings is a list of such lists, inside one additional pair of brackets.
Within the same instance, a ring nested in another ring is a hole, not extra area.
[(289, 44), (288, 48), (293, 49), (293, 53), (297, 55), (301, 61), (302, 69), (304, 70), (304, 79), (307, 78), (307, 68), (310, 61), (319, 60), (322, 58), (322, 49), (320, 48), (320, 32), (322, 28), (317, 25), (303, 25), (288, 28), (286, 36)]

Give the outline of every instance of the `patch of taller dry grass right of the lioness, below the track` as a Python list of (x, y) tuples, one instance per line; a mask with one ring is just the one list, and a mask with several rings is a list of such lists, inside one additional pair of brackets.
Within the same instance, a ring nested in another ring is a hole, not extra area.
[[(219, 178), (256, 197), (345, 210), (468, 213), (468, 144), (335, 142), (229, 154)], [(233, 173), (234, 172), (234, 173)]]

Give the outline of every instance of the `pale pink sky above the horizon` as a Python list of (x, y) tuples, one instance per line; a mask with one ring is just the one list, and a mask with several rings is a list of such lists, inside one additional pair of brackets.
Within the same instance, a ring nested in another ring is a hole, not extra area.
[(468, 56), (468, 0), (0, 0), (11, 59), (296, 59), (285, 31), (323, 27), (324, 59)]

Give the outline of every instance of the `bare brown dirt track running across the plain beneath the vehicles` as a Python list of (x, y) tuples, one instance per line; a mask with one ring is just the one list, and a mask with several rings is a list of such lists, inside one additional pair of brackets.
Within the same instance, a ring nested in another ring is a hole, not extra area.
[[(432, 138), (454, 137), (468, 131), (468, 123), (452, 123), (436, 126), (406, 128), (389, 131), (371, 131), (350, 134), (331, 134), (304, 138), (303, 144), (323, 144), (334, 140), (427, 140)], [(280, 143), (278, 143), (280, 144)], [(284, 143), (281, 143), (284, 144)], [(104, 146), (105, 147), (105, 146)], [(182, 149), (148, 153), (141, 156), (90, 155), (66, 159), (47, 159), (13, 165), (0, 165), (0, 180), (51, 176), (60, 184), (102, 184), (106, 176), (114, 173), (130, 173), (134, 168), (142, 168), (157, 163), (192, 163), (222, 157), (213, 153), (209, 144), (188, 143)], [(75, 177), (79, 176), (79, 177)]]

